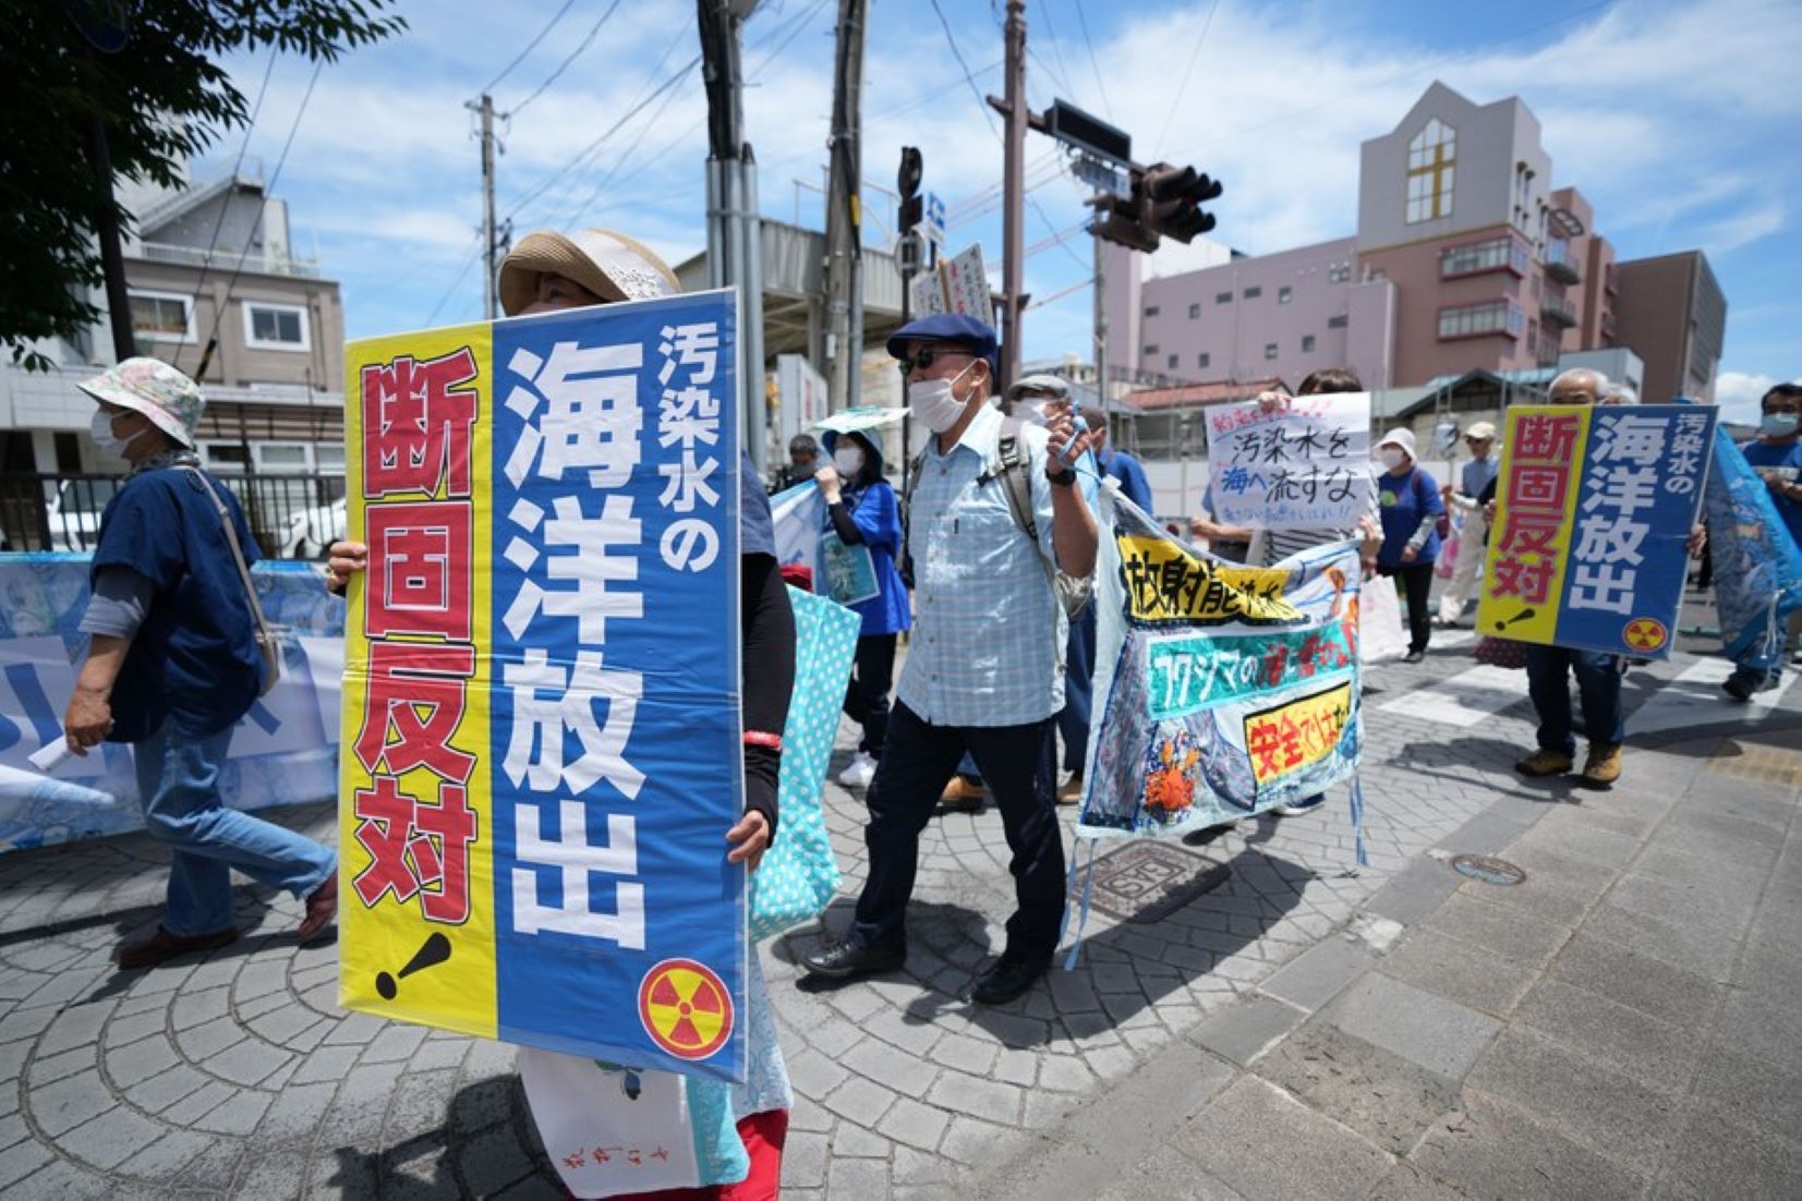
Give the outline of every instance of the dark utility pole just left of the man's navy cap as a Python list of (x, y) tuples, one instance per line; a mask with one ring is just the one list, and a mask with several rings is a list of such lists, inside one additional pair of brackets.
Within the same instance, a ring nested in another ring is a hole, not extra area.
[(833, 140), (825, 194), (827, 409), (863, 393), (863, 29), (869, 0), (838, 0), (833, 61)]

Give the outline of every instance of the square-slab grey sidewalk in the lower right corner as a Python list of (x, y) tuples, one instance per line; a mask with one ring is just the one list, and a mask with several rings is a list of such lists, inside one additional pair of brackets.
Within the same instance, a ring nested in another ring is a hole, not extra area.
[(980, 1196), (1793, 1197), (1802, 731), (1636, 765), (1497, 803)]

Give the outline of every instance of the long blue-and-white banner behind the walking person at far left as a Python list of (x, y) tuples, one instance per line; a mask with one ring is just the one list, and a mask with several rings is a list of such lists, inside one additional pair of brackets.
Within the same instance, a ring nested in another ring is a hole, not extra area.
[[(63, 742), (63, 711), (88, 636), (88, 555), (0, 555), (0, 853), (144, 828), (132, 749), (108, 742), (50, 776), (29, 763)], [(250, 569), (268, 621), (283, 628), (281, 682), (232, 735), (220, 792), (258, 810), (337, 796), (344, 601), (308, 564)]]

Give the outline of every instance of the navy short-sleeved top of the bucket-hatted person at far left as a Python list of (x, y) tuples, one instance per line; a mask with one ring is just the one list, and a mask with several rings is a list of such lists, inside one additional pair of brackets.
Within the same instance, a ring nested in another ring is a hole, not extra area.
[(225, 501), (245, 562), (256, 562), (238, 499), (184, 468), (133, 475), (101, 515), (90, 573), (130, 567), (155, 589), (114, 682), (110, 742), (148, 738), (164, 718), (186, 735), (213, 735), (256, 702), (256, 623), (207, 486)]

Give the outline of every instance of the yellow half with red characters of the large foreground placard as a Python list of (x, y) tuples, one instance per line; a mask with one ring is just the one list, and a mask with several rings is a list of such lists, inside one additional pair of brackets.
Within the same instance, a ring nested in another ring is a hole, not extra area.
[(339, 1003), (492, 1039), (490, 326), (344, 360), (346, 528), (369, 571), (344, 623)]

